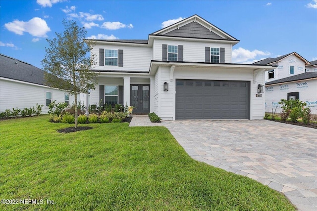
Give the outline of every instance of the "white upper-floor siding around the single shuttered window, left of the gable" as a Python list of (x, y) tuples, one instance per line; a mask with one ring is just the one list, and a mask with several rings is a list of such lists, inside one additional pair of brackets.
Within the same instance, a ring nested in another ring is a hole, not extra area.
[[(99, 66), (99, 48), (123, 50), (123, 67)], [(102, 45), (96, 44), (92, 53), (97, 55), (95, 70), (144, 71), (148, 72), (152, 60), (152, 48), (142, 46)]]

